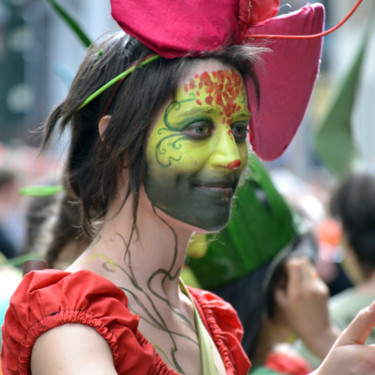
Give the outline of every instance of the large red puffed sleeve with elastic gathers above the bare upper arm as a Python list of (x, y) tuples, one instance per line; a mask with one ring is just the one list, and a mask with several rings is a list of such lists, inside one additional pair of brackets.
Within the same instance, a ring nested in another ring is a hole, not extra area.
[(155, 366), (154, 349), (139, 333), (139, 319), (130, 313), (127, 303), (120, 288), (90, 271), (30, 272), (13, 294), (5, 315), (4, 375), (30, 374), (36, 339), (65, 323), (94, 328), (110, 345), (119, 374), (148, 373)]

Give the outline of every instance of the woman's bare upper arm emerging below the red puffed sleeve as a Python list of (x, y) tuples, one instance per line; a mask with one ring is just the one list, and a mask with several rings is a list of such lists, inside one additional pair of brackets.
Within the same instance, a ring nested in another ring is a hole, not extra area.
[(31, 353), (31, 373), (117, 374), (108, 343), (83, 324), (64, 324), (43, 333)]

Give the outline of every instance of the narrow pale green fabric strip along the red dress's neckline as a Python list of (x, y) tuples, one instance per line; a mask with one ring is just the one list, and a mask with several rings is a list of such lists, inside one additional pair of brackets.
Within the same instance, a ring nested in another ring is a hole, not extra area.
[(194, 306), (194, 319), (195, 319), (195, 326), (197, 329), (198, 335), (198, 342), (199, 342), (199, 349), (201, 355), (201, 362), (202, 362), (202, 375), (217, 375), (218, 371), (215, 365), (215, 361), (213, 358), (213, 341), (210, 335), (207, 332), (205, 325), (202, 322), (202, 319), (199, 315), (198, 309), (195, 306), (195, 303), (186, 288), (185, 284), (182, 280), (180, 280), (180, 287), (183, 293), (190, 299)]

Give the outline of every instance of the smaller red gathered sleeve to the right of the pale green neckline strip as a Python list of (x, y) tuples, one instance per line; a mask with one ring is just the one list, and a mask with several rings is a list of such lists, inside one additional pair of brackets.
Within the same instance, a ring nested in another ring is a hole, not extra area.
[(251, 363), (241, 346), (243, 328), (232, 305), (214, 293), (188, 288), (224, 361), (227, 375), (247, 375)]

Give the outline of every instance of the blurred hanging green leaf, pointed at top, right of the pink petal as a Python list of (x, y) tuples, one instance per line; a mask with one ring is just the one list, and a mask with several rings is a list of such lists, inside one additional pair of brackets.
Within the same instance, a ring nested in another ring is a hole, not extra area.
[(358, 149), (352, 135), (351, 114), (368, 45), (369, 30), (370, 28), (344, 76), (315, 138), (317, 154), (331, 172), (338, 177), (344, 177), (350, 172), (358, 157)]

